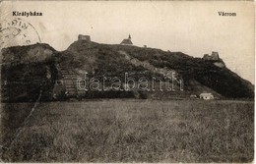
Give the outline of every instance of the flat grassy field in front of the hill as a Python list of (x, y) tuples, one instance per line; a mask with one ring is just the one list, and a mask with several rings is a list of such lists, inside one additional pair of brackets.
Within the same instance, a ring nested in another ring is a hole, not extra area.
[(5, 162), (250, 162), (254, 102), (102, 100), (1, 108)]

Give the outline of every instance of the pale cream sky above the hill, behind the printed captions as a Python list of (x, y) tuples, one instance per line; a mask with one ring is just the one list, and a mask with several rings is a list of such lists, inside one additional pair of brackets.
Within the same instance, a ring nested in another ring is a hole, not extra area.
[(1, 20), (15, 18), (13, 11), (41, 12), (41, 17), (19, 18), (56, 50), (65, 50), (80, 33), (108, 44), (118, 44), (130, 33), (137, 46), (194, 57), (218, 51), (231, 71), (254, 83), (253, 2), (8, 1), (1, 3), (2, 11)]

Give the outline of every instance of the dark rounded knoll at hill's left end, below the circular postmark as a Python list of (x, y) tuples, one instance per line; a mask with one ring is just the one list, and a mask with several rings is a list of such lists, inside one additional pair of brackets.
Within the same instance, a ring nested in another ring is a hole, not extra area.
[(48, 44), (17, 46), (2, 50), (2, 101), (50, 100), (56, 80), (55, 51)]

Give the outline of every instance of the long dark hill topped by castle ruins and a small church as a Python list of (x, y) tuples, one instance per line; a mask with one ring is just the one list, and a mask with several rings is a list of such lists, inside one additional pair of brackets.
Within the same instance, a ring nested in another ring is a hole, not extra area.
[[(2, 50), (1, 58), (2, 99), (9, 101), (35, 100), (39, 89), (42, 89), (45, 100), (52, 100), (54, 93), (68, 89), (85, 98), (189, 98), (191, 94), (202, 92), (211, 92), (218, 98), (254, 97), (253, 84), (228, 70), (221, 58), (205, 60), (182, 52), (99, 44), (91, 40), (77, 40), (61, 52), (39, 43), (9, 47)], [(71, 86), (74, 84), (72, 79), (84, 77), (85, 73), (91, 77), (123, 77), (124, 73), (130, 73), (164, 79), (170, 72), (182, 80), (183, 90), (85, 93)], [(58, 81), (62, 83), (56, 87)]]

